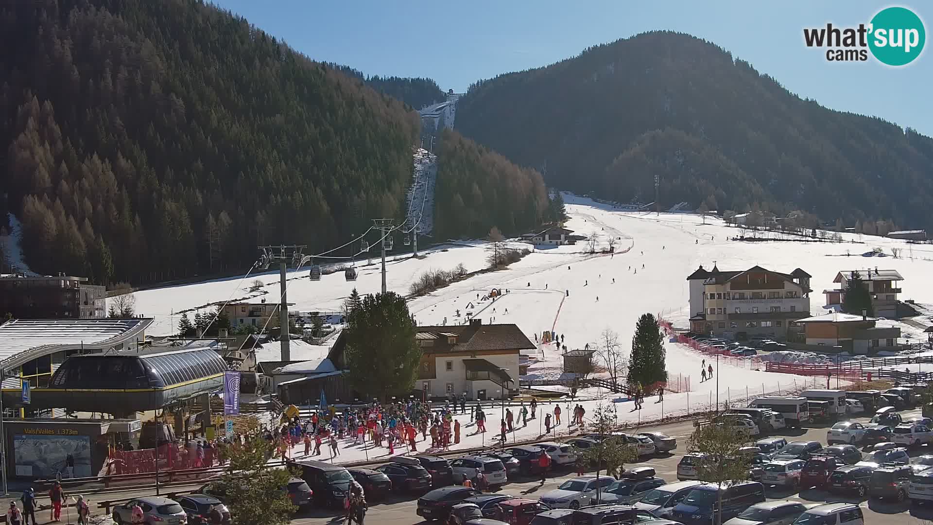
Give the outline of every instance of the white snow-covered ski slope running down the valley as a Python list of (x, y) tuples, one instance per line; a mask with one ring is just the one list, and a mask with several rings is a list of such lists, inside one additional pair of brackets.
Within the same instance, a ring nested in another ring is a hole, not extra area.
[[(564, 335), (568, 349), (583, 348), (587, 343), (592, 347), (597, 343), (599, 334), (606, 328), (619, 333), (622, 348), (629, 348), (634, 334), (634, 324), (638, 317), (646, 312), (661, 314), (674, 322), (676, 327), (686, 328), (689, 318), (688, 283), (686, 277), (701, 263), (710, 268), (716, 262), (723, 270), (740, 270), (760, 265), (779, 272), (790, 272), (796, 267), (814, 276), (811, 279), (811, 313), (824, 313), (822, 308), (824, 289), (834, 288), (832, 279), (841, 270), (864, 269), (875, 267), (897, 269), (904, 277), (903, 299), (915, 299), (917, 303), (933, 302), (933, 279), (927, 276), (933, 271), (933, 247), (908, 245), (903, 241), (861, 235), (864, 244), (853, 243), (801, 243), (801, 242), (738, 242), (727, 240), (740, 233), (740, 230), (726, 226), (722, 220), (703, 219), (695, 214), (621, 212), (604, 204), (572, 194), (564, 194), (570, 219), (566, 227), (577, 234), (590, 235), (593, 232), (601, 239), (600, 248), (606, 246), (608, 235), (621, 237), (617, 241), (617, 251), (631, 248), (627, 253), (610, 255), (590, 255), (585, 253), (588, 246), (581, 242), (577, 246), (536, 249), (522, 261), (511, 264), (508, 269), (479, 274), (451, 286), (434, 291), (423, 297), (411, 300), (409, 308), (419, 324), (442, 324), (463, 322), (466, 312), (472, 312), (483, 323), (494, 320), (498, 323), (511, 322), (519, 326), (529, 339), (553, 326), (557, 333)], [(859, 240), (855, 234), (843, 234), (846, 240)], [(522, 246), (515, 244), (515, 246)], [(527, 246), (527, 245), (523, 245)], [(890, 248), (903, 248), (904, 258), (862, 257), (860, 254), (872, 248), (880, 247), (890, 253)], [(910, 250), (910, 248), (913, 248)], [(446, 251), (445, 251), (446, 249)], [(913, 258), (910, 258), (910, 253)], [(847, 252), (851, 255), (847, 256)], [(407, 256), (387, 261), (387, 284), (389, 290), (408, 293), (411, 281), (429, 269), (451, 269), (463, 263), (467, 271), (485, 267), (487, 251), (482, 241), (464, 242), (431, 248), (425, 251), (424, 259), (411, 259)], [(308, 269), (289, 272), (288, 301), (296, 303), (293, 309), (337, 310), (347, 294), (356, 288), (360, 293), (379, 291), (381, 277), (376, 259), (373, 264), (357, 264), (359, 276), (355, 282), (344, 280), (342, 273), (322, 276), (320, 281), (307, 278)], [(644, 269), (642, 264), (645, 265)], [(570, 269), (567, 269), (567, 266)], [(635, 273), (637, 271), (637, 273)], [(150, 333), (168, 333), (172, 330), (170, 312), (212, 301), (226, 301), (233, 297), (248, 295), (246, 288), (258, 278), (266, 284), (263, 295), (268, 301), (278, 297), (278, 273), (267, 272), (246, 279), (229, 278), (204, 283), (136, 292), (136, 304), (139, 313), (155, 316), (156, 321)], [(615, 278), (615, 283), (612, 279)], [(501, 288), (508, 293), (491, 301), (478, 301), (492, 288)], [(569, 292), (569, 294), (567, 293)], [(597, 302), (596, 298), (599, 298)], [(564, 303), (563, 307), (561, 303)], [(468, 307), (472, 303), (472, 307)], [(505, 312), (508, 308), (508, 314)], [(560, 308), (560, 315), (558, 314)], [(456, 316), (460, 310), (460, 316)], [(556, 321), (555, 321), (556, 317)], [(918, 320), (921, 318), (917, 318)], [(177, 316), (174, 321), (177, 321)], [(880, 321), (882, 325), (897, 325), (905, 334), (923, 337), (921, 329), (894, 321)], [(669, 385), (683, 393), (667, 393), (664, 403), (654, 403), (656, 396), (646, 398), (641, 411), (632, 411), (632, 403), (613, 403), (619, 396), (605, 395), (598, 391), (582, 390), (580, 396), (590, 397), (582, 404), (589, 414), (596, 405), (605, 403), (616, 407), (620, 421), (636, 423), (639, 420), (659, 419), (661, 415), (675, 416), (707, 407), (716, 403), (717, 393), (720, 403), (745, 403), (747, 397), (755, 397), (762, 392), (786, 393), (787, 390), (801, 389), (805, 385), (817, 385), (822, 379), (760, 371), (763, 364), (759, 360), (720, 359), (712, 362), (716, 370), (713, 380), (701, 383), (699, 372), (703, 360), (709, 356), (697, 353), (684, 345), (665, 342), (667, 349), (667, 370)], [(531, 351), (533, 358), (529, 368), (529, 378), (550, 378), (561, 376), (561, 351), (555, 345), (544, 345), (537, 352)], [(789, 355), (784, 358), (791, 361), (806, 361), (805, 356)], [(858, 359), (857, 357), (854, 359)], [(710, 362), (707, 361), (707, 364)], [(915, 365), (914, 365), (915, 366)], [(929, 365), (925, 365), (929, 366)], [(717, 381), (718, 379), (718, 381)], [(686, 391), (689, 382), (689, 392)], [(549, 409), (553, 404), (546, 405)], [(566, 420), (568, 406), (563, 402), (564, 424), (558, 427), (558, 433), (567, 431)], [(572, 405), (570, 406), (572, 408)], [(499, 407), (488, 411), (489, 428), (498, 428)], [(493, 432), (486, 436), (469, 435), (474, 428), (469, 426), (467, 416), (458, 416), (464, 425), (463, 439), (457, 447), (479, 447), (491, 442)], [(529, 427), (516, 431), (514, 438), (531, 439), (539, 436), (538, 423), (541, 419), (530, 421)], [(486, 439), (489, 438), (489, 439)], [(509, 440), (513, 438), (509, 434)], [(385, 448), (375, 450), (356, 446), (342, 448), (340, 461), (382, 457)], [(303, 447), (301, 447), (303, 448)], [(298, 450), (298, 448), (296, 448)], [(397, 448), (397, 453), (405, 448)], [(419, 451), (424, 452), (424, 445), (419, 442)]]

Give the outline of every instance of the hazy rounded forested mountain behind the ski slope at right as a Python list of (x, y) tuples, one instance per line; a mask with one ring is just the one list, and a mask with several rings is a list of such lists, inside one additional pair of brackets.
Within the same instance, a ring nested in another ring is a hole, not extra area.
[(470, 87), (457, 130), (601, 197), (933, 227), (933, 140), (787, 92), (728, 51), (654, 32)]

